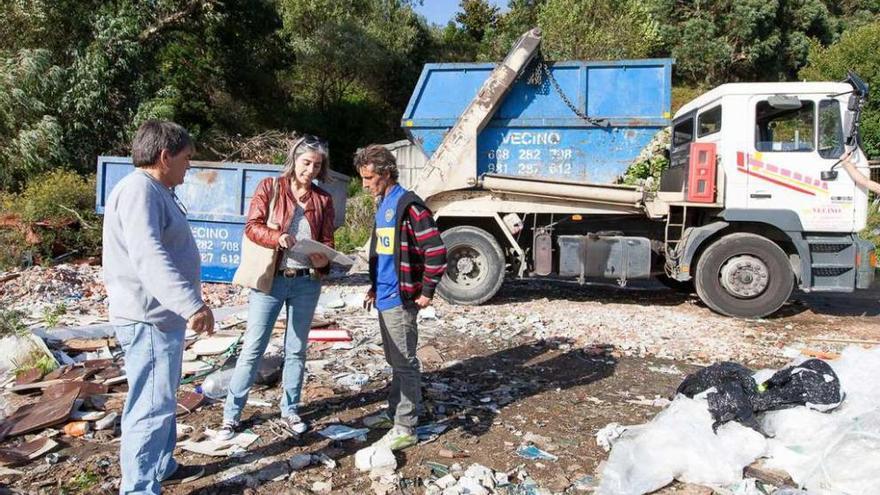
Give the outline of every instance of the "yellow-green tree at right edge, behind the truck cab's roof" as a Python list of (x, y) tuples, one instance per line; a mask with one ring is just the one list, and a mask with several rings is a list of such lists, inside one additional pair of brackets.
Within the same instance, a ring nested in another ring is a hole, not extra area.
[[(848, 70), (855, 71), (872, 90), (880, 88), (880, 21), (843, 33), (827, 48), (814, 43), (798, 76), (834, 81), (846, 77)], [(862, 114), (862, 146), (869, 157), (880, 158), (880, 98), (872, 96)]]

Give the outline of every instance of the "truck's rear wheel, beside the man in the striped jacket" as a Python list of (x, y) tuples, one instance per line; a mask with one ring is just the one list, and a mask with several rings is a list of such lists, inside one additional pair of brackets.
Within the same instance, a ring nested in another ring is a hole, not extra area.
[(453, 304), (482, 304), (504, 282), (504, 253), (491, 234), (462, 225), (443, 232), (446, 274), (437, 288)]

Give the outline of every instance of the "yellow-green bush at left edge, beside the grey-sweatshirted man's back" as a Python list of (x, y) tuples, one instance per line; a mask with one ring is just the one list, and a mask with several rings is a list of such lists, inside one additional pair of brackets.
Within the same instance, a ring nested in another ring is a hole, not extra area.
[(69, 252), (92, 255), (100, 251), (94, 176), (53, 170), (32, 178), (20, 194), (4, 198), (4, 211), (18, 225), (0, 230), (0, 242), (8, 243), (0, 253), (0, 263), (20, 264), (29, 252), (45, 261)]

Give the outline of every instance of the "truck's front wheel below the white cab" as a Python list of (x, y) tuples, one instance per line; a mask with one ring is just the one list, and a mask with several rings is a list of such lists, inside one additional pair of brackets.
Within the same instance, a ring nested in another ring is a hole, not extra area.
[(697, 295), (727, 316), (760, 318), (774, 313), (791, 296), (794, 273), (779, 246), (756, 234), (722, 237), (700, 256)]

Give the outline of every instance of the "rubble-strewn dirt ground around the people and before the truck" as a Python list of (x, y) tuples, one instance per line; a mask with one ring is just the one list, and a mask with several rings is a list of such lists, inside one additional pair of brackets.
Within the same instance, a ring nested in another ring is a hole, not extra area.
[[(58, 367), (16, 369), (0, 383), (6, 425), (0, 427), (0, 483), (70, 489), (75, 470), (86, 466), (95, 486), (112, 491), (127, 387), (122, 352), (106, 321), (100, 267), (15, 274), (0, 276), (0, 307), (24, 313), (24, 324)], [(212, 493), (216, 483), (255, 493), (275, 493), (277, 484), (315, 493), (594, 491), (599, 463), (609, 457), (597, 433), (610, 448), (627, 434), (621, 424), (662, 414), (675, 386), (696, 366), (726, 360), (779, 366), (802, 353), (837, 354), (848, 340), (872, 340), (869, 333), (842, 334), (844, 327), (853, 330), (838, 317), (798, 316), (798, 303), (790, 308), (795, 316), (736, 320), (662, 289), (513, 282), (489, 304), (438, 301), (420, 313), (425, 411), (419, 444), (390, 457), (374, 452), (367, 456), (376, 460), (371, 466), (359, 463), (357, 453), (384, 431), (363, 419), (384, 402), (391, 370), (378, 315), (361, 305), (366, 284), (363, 275), (325, 282), (303, 387), (312, 423), (305, 440), (275, 421), (284, 336), (279, 322), (260, 384), (249, 397), (246, 429), (226, 443), (212, 435), (223, 396), (212, 400), (208, 388), (212, 376), (219, 379), (234, 363), (247, 297), (230, 285), (204, 285), (218, 315), (217, 333), (188, 335), (177, 451), (187, 462), (217, 465), (198, 485), (202, 490)], [(817, 334), (825, 340), (816, 341)], [(367, 469), (361, 473), (362, 466)], [(213, 493), (223, 493), (218, 490)]]

